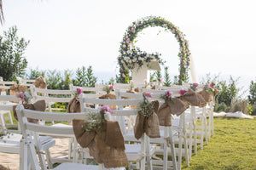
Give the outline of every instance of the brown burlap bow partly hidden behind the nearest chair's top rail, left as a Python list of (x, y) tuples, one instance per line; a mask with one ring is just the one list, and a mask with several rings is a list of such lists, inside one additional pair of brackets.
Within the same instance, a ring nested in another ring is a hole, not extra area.
[[(17, 116), (16, 110), (15, 110), (16, 106), (17, 105), (13, 106), (13, 111), (14, 111), (15, 119), (18, 121), (18, 116)], [(38, 100), (34, 104), (23, 104), (23, 106), (25, 109), (29, 109), (29, 110), (33, 110), (33, 111), (45, 111), (45, 109), (46, 109), (46, 104), (45, 104), (44, 100)], [(27, 121), (33, 122), (33, 123), (38, 123), (38, 119), (28, 118)]]

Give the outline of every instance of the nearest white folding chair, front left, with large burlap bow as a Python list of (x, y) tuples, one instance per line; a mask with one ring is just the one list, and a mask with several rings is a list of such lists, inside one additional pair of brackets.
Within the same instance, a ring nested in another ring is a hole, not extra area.
[[(17, 115), (19, 117), (20, 121), (20, 127), (23, 133), (24, 139), (21, 139), (20, 144), (20, 170), (27, 170), (31, 166), (33, 170), (40, 170), (40, 169), (46, 169), (46, 164), (44, 162), (43, 155), (37, 156), (37, 150), (39, 152), (42, 152), (41, 145), (42, 143), (38, 140), (38, 133), (51, 133), (52, 135), (55, 134), (61, 134), (65, 136), (73, 136), (73, 127), (54, 127), (54, 126), (45, 126), (40, 124), (34, 124), (31, 122), (27, 122), (27, 118), (33, 118), (33, 119), (42, 119), (46, 121), (72, 121), (73, 119), (87, 119), (87, 113), (49, 113), (44, 111), (31, 111), (26, 110), (23, 108), (22, 105), (18, 105), (16, 108)], [(34, 140), (37, 140), (37, 142), (32, 142), (32, 137)], [(39, 161), (38, 161), (38, 158)], [(29, 162), (29, 163), (27, 163)], [(39, 163), (40, 162), (40, 163)], [(55, 170), (61, 169), (73, 169), (73, 170), (80, 170), (80, 169), (99, 169), (99, 166), (92, 166), (92, 165), (83, 165), (83, 164), (77, 164), (77, 163), (70, 163), (65, 162), (61, 163), (60, 166), (55, 167)]]

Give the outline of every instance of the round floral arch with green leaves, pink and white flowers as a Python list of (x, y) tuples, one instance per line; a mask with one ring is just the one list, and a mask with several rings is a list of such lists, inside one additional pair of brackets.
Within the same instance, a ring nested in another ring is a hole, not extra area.
[(163, 63), (162, 59), (160, 59), (160, 54), (147, 54), (146, 52), (141, 51), (140, 48), (133, 46), (133, 42), (137, 37), (137, 33), (139, 31), (143, 31), (143, 29), (147, 28), (148, 26), (161, 26), (165, 28), (166, 31), (171, 31), (172, 34), (174, 34), (180, 46), (180, 51), (177, 54), (177, 56), (180, 59), (178, 82), (179, 84), (181, 84), (182, 82), (188, 82), (188, 71), (190, 61), (189, 43), (184, 38), (185, 35), (183, 34), (183, 32), (179, 31), (177, 26), (174, 26), (170, 21), (165, 20), (164, 18), (161, 18), (159, 16), (148, 16), (140, 20), (134, 21), (130, 26), (128, 26), (128, 29), (125, 31), (123, 41), (121, 42), (119, 48), (118, 57), (121, 82), (125, 82), (125, 78), (122, 77), (122, 75), (128, 72), (127, 69), (134, 69), (135, 64), (142, 66), (143, 61), (149, 63), (153, 59), (157, 60), (160, 64)]

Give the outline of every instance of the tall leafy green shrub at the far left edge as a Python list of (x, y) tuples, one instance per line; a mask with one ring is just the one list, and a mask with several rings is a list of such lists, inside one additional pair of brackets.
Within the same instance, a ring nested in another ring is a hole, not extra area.
[(0, 36), (0, 77), (4, 81), (13, 81), (25, 74), (27, 61), (23, 56), (29, 41), (17, 36), (17, 27), (3, 31)]

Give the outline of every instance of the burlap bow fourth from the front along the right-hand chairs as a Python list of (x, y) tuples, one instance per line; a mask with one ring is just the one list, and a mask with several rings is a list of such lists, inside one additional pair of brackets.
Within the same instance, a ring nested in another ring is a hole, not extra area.
[(179, 99), (182, 99), (185, 102), (188, 102), (191, 106), (199, 106), (203, 107), (207, 105), (205, 99), (201, 96), (201, 94), (195, 93), (192, 89), (189, 88), (188, 92), (183, 96), (180, 96)]

